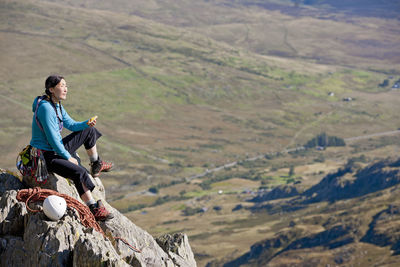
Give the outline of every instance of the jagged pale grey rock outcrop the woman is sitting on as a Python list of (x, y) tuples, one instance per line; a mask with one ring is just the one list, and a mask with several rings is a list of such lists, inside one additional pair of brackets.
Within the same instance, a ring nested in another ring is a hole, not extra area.
[[(34, 181), (25, 178), (22, 183), (10, 174), (0, 174), (0, 266), (196, 266), (185, 234), (156, 241), (112, 208), (105, 201), (101, 181), (94, 182), (94, 198), (102, 199), (114, 214), (100, 223), (107, 237), (83, 226), (73, 209), (58, 221), (50, 221), (42, 212), (27, 212), (16, 195), (26, 184), (36, 185)], [(51, 175), (44, 187), (80, 200), (72, 182), (57, 175)], [(141, 253), (114, 237), (123, 238)]]

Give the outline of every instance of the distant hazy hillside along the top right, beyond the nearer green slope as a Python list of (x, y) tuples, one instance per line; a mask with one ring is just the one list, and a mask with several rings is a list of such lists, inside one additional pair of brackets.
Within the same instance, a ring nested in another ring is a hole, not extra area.
[[(396, 1), (303, 2), (295, 6), (292, 1), (274, 0), (118, 0), (116, 4), (86, 1), (83, 7), (191, 29), (258, 54), (398, 71), (400, 7)], [(76, 0), (68, 3), (82, 7)]]

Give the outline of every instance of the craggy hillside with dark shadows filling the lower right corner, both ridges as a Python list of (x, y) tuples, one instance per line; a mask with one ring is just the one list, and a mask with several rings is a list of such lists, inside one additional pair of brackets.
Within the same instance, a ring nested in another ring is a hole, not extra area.
[[(304, 192), (302, 198), (270, 203), (268, 212), (291, 206), (284, 216), (294, 219), (273, 238), (254, 244), (248, 253), (224, 266), (398, 264), (399, 160), (387, 159), (355, 168), (357, 171), (350, 175), (353, 181), (347, 183), (343, 182), (343, 170), (336, 176), (326, 176)], [(329, 185), (326, 184), (328, 179)], [(371, 186), (371, 183), (385, 186)], [(335, 190), (335, 185), (340, 189)], [(324, 201), (327, 200), (332, 203), (326, 205)], [(295, 208), (299, 201), (318, 205), (303, 205), (305, 211), (301, 213), (306, 216), (300, 217)], [(376, 254), (377, 251), (380, 254)]]

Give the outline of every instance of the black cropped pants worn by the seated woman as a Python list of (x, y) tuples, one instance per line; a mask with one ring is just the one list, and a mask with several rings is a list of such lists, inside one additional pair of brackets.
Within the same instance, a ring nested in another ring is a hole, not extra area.
[[(64, 137), (63, 144), (65, 149), (71, 155), (74, 155), (76, 150), (82, 145), (85, 146), (85, 149), (91, 149), (94, 147), (97, 139), (99, 139), (101, 135), (102, 134), (96, 128), (89, 127), (83, 131), (73, 132)], [(63, 157), (57, 155), (54, 151), (46, 151), (44, 153), (44, 158), (46, 160), (46, 165), (49, 172), (72, 179), (80, 196), (85, 193), (83, 184), (90, 191), (93, 191), (95, 185), (90, 179), (88, 171), (84, 167), (64, 159)]]

